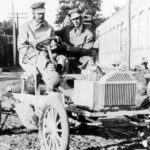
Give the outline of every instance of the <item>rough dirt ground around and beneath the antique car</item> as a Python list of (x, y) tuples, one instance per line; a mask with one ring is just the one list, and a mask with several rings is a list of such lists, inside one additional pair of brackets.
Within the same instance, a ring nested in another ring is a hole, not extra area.
[[(20, 84), (20, 74), (0, 73), (0, 91), (4, 91), (8, 85)], [(8, 115), (9, 113), (11, 115)], [(109, 127), (71, 128), (69, 150), (144, 150), (136, 139), (135, 128), (127, 121), (109, 120), (104, 124)], [(124, 126), (118, 127), (118, 124)], [(15, 113), (4, 113), (1, 121), (0, 150), (40, 150), (38, 131), (28, 131)]]

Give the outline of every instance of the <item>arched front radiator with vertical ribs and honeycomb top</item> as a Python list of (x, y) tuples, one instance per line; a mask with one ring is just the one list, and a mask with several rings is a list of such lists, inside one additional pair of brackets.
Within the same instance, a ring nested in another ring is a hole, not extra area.
[(98, 84), (97, 105), (103, 107), (135, 105), (137, 82), (130, 73), (110, 72)]

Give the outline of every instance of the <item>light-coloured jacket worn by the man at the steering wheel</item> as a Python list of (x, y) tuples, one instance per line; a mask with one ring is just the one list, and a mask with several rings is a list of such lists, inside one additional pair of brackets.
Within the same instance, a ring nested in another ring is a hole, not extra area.
[(32, 57), (36, 53), (37, 50), (34, 48), (36, 40), (52, 36), (54, 36), (54, 29), (46, 21), (38, 24), (33, 19), (24, 24), (20, 28), (18, 36), (19, 59), (22, 61), (24, 57), (30, 57), (30, 55)]

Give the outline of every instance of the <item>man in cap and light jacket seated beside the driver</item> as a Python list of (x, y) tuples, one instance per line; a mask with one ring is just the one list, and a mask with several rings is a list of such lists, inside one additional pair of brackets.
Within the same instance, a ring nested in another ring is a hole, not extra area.
[(65, 27), (61, 31), (57, 31), (56, 34), (62, 38), (67, 51), (74, 57), (70, 59), (70, 68), (75, 73), (80, 73), (81, 68), (91, 60), (94, 34), (83, 25), (81, 12), (78, 8), (70, 10), (69, 15), (73, 27)]

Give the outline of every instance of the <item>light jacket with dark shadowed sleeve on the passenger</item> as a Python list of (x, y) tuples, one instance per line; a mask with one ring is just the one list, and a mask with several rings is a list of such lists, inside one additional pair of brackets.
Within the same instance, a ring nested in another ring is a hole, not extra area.
[[(94, 44), (94, 34), (86, 28), (84, 25), (81, 25), (78, 29), (75, 29), (72, 26), (66, 26), (60, 31), (56, 32), (56, 35), (60, 36), (63, 42), (66, 42), (71, 48), (79, 49), (78, 51), (87, 51), (89, 52)], [(74, 53), (75, 50), (74, 49)], [(83, 54), (80, 56), (80, 62), (85, 64), (91, 57)]]

